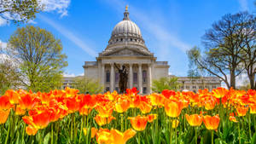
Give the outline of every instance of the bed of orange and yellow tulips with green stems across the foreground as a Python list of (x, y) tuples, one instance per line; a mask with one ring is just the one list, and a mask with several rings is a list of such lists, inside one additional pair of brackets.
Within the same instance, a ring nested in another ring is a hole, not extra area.
[(255, 143), (256, 91), (218, 88), (138, 95), (79, 90), (0, 97), (1, 143)]

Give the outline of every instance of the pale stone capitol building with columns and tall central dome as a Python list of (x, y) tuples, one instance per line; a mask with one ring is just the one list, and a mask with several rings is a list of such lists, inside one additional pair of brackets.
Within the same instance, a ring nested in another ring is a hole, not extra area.
[[(173, 77), (169, 75), (167, 61), (157, 61), (145, 45), (140, 28), (129, 18), (127, 6), (124, 18), (113, 27), (107, 47), (99, 53), (96, 61), (84, 62), (84, 76), (99, 80), (105, 91), (119, 91), (119, 72), (114, 66), (125, 66), (128, 72), (128, 88), (136, 87), (141, 94), (152, 93), (154, 79)], [(174, 76), (175, 77), (175, 76)], [(65, 84), (71, 84), (73, 78), (64, 78)], [(204, 77), (203, 81), (192, 81), (187, 77), (178, 78), (180, 90), (214, 89), (220, 80), (215, 77)]]

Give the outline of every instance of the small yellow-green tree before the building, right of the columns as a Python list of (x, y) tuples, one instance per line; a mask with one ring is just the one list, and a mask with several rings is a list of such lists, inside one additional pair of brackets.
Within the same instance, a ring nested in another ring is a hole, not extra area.
[(153, 80), (152, 90), (160, 93), (164, 89), (177, 90), (180, 84), (177, 82), (177, 77), (160, 78), (159, 80)]

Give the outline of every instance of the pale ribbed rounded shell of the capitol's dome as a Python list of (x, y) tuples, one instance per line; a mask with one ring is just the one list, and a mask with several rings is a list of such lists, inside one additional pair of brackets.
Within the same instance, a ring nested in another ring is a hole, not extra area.
[(140, 28), (131, 20), (122, 20), (113, 28), (112, 37), (131, 34), (142, 37)]

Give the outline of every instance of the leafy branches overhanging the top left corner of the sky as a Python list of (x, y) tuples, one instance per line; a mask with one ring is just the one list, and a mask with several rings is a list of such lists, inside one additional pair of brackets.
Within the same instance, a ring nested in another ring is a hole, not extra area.
[(0, 19), (27, 22), (34, 19), (41, 9), (38, 0), (1, 0)]

